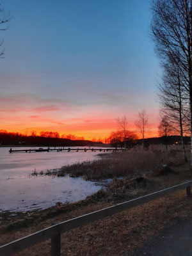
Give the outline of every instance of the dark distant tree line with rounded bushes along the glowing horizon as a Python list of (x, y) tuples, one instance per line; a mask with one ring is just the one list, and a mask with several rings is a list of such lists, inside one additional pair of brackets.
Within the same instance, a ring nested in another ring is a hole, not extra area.
[[(0, 145), (39, 145), (45, 147), (72, 147), (72, 146), (94, 146), (103, 145), (100, 141), (90, 140), (70, 140), (67, 138), (60, 138), (58, 132), (50, 132), (42, 134), (44, 136), (36, 135), (36, 132), (31, 132), (30, 135), (20, 134), (19, 132), (7, 132), (0, 130)], [(126, 140), (126, 148), (130, 149), (135, 145), (143, 145), (143, 138), (138, 139), (138, 136), (134, 132), (126, 130), (126, 138), (124, 138), (124, 132), (115, 131), (111, 132), (106, 143), (112, 147), (124, 147)], [(190, 137), (184, 136), (184, 144), (189, 144)], [(180, 141), (180, 136), (161, 136), (159, 138), (147, 138), (144, 139), (145, 148), (152, 144), (166, 144), (173, 145)]]

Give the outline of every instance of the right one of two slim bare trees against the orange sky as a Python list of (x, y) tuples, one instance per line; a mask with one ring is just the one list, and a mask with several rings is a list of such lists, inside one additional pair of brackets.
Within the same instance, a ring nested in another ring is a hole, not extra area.
[(145, 133), (148, 128), (148, 116), (145, 108), (138, 113), (138, 120), (136, 120), (135, 124), (141, 133), (144, 148)]

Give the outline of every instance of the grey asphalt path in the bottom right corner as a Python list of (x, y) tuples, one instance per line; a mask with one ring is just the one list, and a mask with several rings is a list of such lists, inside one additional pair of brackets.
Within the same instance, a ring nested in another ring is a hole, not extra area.
[(176, 220), (131, 256), (192, 256), (192, 220)]

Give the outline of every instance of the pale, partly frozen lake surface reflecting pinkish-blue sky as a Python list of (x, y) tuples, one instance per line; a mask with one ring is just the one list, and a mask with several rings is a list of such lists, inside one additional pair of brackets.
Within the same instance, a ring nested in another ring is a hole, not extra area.
[[(22, 147), (12, 149), (26, 149)], [(81, 148), (81, 147), (79, 147)], [(76, 202), (101, 186), (81, 178), (30, 176), (66, 164), (98, 159), (98, 152), (12, 153), (0, 147), (0, 212), (45, 209), (56, 202)]]

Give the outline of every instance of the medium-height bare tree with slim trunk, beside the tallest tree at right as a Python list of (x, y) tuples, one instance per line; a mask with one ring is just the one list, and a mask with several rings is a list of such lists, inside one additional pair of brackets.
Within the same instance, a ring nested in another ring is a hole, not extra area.
[(184, 77), (175, 63), (164, 67), (163, 83), (159, 84), (159, 100), (164, 115), (168, 116), (173, 131), (180, 135), (184, 161), (187, 162), (184, 134), (189, 133), (189, 97), (183, 84)]

